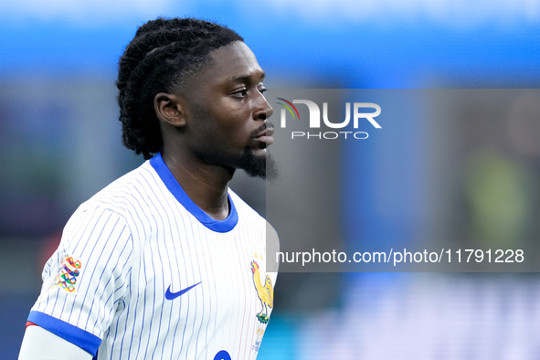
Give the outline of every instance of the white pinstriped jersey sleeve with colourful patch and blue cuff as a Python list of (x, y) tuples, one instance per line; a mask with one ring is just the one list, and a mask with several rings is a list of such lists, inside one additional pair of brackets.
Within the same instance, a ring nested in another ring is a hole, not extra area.
[(125, 218), (100, 206), (69, 219), (28, 316), (96, 355), (130, 287), (132, 233)]

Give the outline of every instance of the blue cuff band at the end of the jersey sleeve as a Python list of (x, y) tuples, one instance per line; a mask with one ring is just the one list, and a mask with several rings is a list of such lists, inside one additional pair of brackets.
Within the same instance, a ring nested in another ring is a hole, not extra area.
[(52, 317), (47, 313), (36, 311), (30, 312), (28, 321), (41, 326), (52, 334), (57, 334), (71, 344), (76, 344), (91, 355), (96, 355), (98, 353), (101, 339), (94, 334), (79, 329), (77, 326)]

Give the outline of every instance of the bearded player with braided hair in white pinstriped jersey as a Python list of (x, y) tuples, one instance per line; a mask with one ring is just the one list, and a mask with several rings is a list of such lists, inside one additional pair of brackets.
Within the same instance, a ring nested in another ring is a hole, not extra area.
[(257, 356), (277, 237), (228, 182), (237, 169), (275, 174), (264, 77), (228, 27), (160, 18), (138, 29), (117, 86), (123, 143), (147, 161), (69, 219), (20, 359)]

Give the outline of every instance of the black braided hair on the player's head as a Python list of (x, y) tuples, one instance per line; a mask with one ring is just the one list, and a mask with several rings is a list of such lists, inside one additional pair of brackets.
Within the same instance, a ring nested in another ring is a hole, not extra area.
[(118, 65), (122, 143), (150, 159), (163, 148), (154, 97), (174, 92), (202, 69), (209, 53), (244, 41), (226, 26), (195, 18), (157, 18), (140, 26)]

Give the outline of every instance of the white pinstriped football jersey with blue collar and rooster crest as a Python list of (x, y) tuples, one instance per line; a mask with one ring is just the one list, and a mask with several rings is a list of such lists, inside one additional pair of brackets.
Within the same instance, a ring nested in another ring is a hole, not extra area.
[(215, 220), (161, 154), (83, 203), (28, 323), (97, 359), (253, 359), (273, 307), (266, 220), (229, 190)]

